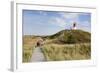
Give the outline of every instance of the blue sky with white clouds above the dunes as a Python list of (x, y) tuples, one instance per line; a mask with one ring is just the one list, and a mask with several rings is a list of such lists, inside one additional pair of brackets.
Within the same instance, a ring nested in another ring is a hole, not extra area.
[(91, 31), (90, 13), (23, 10), (24, 35), (52, 35), (70, 29), (74, 22), (77, 29)]

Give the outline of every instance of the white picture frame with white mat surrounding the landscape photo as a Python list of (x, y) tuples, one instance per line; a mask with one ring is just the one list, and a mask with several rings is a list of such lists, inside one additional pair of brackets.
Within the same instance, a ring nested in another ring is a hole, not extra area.
[[(22, 10), (50, 10), (50, 11), (73, 11), (73, 12), (90, 12), (91, 18), (91, 60), (74, 60), (74, 61), (58, 61), (58, 62), (39, 62), (39, 63), (22, 63)], [(95, 19), (95, 20), (94, 20)], [(38, 70), (38, 69), (55, 69), (66, 67), (82, 67), (96, 65), (97, 47), (95, 41), (96, 32), (96, 8), (73, 7), (73, 6), (54, 6), (41, 4), (27, 4), (11, 2), (11, 70)], [(95, 49), (93, 49), (95, 48)]]

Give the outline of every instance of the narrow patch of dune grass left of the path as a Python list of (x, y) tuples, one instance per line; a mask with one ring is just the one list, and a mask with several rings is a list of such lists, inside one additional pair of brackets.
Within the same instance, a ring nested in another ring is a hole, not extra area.
[(24, 36), (23, 37), (23, 62), (29, 62), (32, 56), (32, 53), (34, 51), (35, 48), (35, 39), (32, 39), (32, 37), (30, 36)]

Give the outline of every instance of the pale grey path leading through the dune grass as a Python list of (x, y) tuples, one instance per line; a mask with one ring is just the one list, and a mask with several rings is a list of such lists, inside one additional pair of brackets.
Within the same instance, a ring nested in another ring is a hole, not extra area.
[(41, 51), (41, 48), (36, 47), (32, 54), (31, 62), (41, 62), (41, 61), (45, 61), (45, 57)]

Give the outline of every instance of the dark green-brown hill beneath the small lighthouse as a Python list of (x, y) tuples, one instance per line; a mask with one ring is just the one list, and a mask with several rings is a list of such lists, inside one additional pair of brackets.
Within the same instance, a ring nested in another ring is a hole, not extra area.
[(91, 42), (91, 34), (82, 30), (62, 30), (54, 35), (42, 37), (44, 40), (52, 39), (52, 43), (74, 44)]

